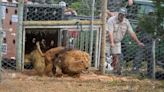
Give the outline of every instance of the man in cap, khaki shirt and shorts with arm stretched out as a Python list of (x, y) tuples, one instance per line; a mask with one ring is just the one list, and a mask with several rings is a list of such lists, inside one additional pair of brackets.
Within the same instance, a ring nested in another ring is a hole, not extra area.
[(109, 40), (111, 46), (112, 66), (114, 73), (121, 74), (121, 67), (119, 62), (119, 56), (121, 54), (121, 41), (124, 38), (126, 32), (131, 36), (131, 38), (140, 46), (144, 47), (144, 44), (141, 43), (135, 32), (133, 31), (128, 19), (125, 18), (127, 14), (126, 8), (121, 8), (117, 16), (110, 17), (108, 19), (108, 31), (109, 31)]

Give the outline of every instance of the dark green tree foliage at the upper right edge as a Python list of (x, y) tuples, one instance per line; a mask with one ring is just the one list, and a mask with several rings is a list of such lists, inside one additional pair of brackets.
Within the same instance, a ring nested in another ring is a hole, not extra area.
[(154, 38), (164, 36), (164, 0), (153, 0), (155, 11), (140, 18), (139, 26)]

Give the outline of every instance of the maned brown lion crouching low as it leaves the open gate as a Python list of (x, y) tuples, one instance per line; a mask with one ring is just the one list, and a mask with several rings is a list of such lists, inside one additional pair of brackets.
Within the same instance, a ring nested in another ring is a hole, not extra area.
[(39, 43), (37, 43), (37, 48), (45, 57), (45, 72), (48, 76), (55, 73), (57, 76), (62, 73), (80, 76), (80, 73), (89, 67), (90, 56), (84, 51), (56, 47), (43, 54)]

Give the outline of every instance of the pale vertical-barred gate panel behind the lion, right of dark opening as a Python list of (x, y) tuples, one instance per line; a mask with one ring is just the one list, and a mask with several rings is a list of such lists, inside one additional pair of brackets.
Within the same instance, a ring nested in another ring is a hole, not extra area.
[[(93, 31), (93, 52), (92, 52), (92, 62), (91, 66), (98, 68), (98, 59), (99, 59), (99, 47), (100, 45), (100, 35), (98, 35), (100, 30)], [(69, 48), (80, 49), (90, 53), (90, 35), (91, 30), (88, 29), (63, 29), (60, 31), (60, 41), (62, 46)]]

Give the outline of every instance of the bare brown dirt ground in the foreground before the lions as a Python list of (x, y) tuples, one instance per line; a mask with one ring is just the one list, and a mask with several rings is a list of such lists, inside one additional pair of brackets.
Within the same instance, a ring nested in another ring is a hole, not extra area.
[(80, 78), (40, 77), (32, 71), (3, 72), (0, 92), (164, 92), (164, 81), (100, 75), (97, 71)]

